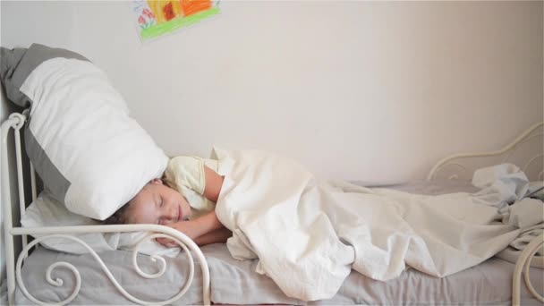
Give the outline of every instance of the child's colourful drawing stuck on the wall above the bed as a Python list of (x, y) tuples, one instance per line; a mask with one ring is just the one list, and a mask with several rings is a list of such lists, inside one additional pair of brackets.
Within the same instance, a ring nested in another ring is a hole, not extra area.
[(134, 0), (140, 38), (171, 33), (219, 13), (214, 0)]

